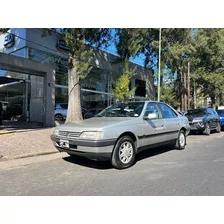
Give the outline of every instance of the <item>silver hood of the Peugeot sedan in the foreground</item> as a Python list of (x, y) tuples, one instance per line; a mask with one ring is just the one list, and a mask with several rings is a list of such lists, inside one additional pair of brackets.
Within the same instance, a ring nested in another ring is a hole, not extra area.
[(74, 132), (94, 131), (117, 124), (125, 125), (126, 123), (138, 123), (137, 120), (137, 118), (133, 117), (94, 117), (76, 123), (62, 124), (57, 126), (57, 129)]

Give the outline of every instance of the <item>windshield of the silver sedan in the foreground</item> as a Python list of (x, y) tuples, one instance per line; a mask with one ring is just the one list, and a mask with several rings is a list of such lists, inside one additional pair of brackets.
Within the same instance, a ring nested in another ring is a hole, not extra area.
[(101, 111), (96, 117), (139, 117), (144, 104), (144, 102), (114, 104)]

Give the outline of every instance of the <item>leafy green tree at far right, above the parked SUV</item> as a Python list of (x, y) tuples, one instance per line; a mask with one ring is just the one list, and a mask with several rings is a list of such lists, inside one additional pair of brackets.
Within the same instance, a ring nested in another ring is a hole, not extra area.
[(211, 106), (224, 101), (224, 29), (198, 29), (195, 33), (193, 77)]

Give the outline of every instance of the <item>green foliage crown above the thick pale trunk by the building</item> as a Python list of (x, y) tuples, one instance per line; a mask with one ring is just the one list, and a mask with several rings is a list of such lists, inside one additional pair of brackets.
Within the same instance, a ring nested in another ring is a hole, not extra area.
[(43, 36), (51, 35), (53, 32), (57, 32), (66, 42), (69, 48), (69, 69), (76, 68), (78, 79), (85, 79), (92, 69), (93, 50), (91, 46), (98, 48), (107, 45), (111, 39), (109, 28), (44, 29)]

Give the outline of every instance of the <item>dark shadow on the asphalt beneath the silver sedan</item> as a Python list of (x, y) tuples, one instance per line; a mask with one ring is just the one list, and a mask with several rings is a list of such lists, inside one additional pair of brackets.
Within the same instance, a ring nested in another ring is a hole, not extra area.
[[(146, 149), (140, 153), (137, 154), (135, 164), (138, 161), (141, 161), (142, 159), (147, 159), (162, 153), (166, 153), (168, 151), (175, 150), (172, 146), (160, 146), (156, 148)], [(63, 158), (66, 162), (78, 164), (80, 166), (85, 166), (93, 169), (98, 170), (107, 170), (107, 169), (113, 169), (110, 161), (94, 161), (89, 160), (85, 157), (81, 156), (68, 156)]]

